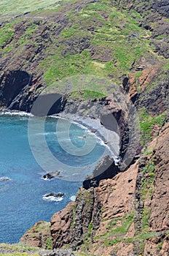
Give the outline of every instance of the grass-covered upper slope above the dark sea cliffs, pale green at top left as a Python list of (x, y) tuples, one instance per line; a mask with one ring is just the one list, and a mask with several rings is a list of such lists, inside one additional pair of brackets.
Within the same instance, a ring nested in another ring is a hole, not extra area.
[(167, 64), (154, 46), (152, 29), (141, 26), (145, 15), (134, 7), (122, 9), (122, 2), (20, 0), (1, 1), (0, 8), (2, 71), (40, 74), (47, 86), (79, 74), (119, 84), (142, 56), (151, 64)]

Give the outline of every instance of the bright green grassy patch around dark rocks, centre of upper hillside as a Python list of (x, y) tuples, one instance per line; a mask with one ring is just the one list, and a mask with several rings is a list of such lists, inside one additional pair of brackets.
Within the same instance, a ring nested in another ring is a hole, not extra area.
[[(108, 17), (106, 20), (103, 13)], [(119, 76), (130, 72), (134, 60), (138, 61), (144, 53), (152, 55), (153, 48), (146, 39), (149, 31), (138, 26), (137, 12), (132, 17), (111, 7), (109, 1), (103, 1), (85, 4), (77, 13), (70, 10), (67, 17), (69, 27), (58, 37), (53, 35), (48, 56), (39, 64), (48, 85), (82, 74), (111, 77), (114, 83), (119, 83)], [(95, 33), (89, 30), (90, 26), (95, 28)], [(95, 58), (91, 49), (95, 49)]]

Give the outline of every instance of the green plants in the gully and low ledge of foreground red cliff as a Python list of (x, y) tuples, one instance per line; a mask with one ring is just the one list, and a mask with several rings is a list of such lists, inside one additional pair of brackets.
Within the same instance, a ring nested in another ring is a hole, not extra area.
[[(159, 117), (158, 117), (159, 118)], [(159, 119), (157, 119), (159, 120)], [(156, 121), (157, 121), (156, 120)], [(150, 208), (146, 205), (146, 202), (151, 200), (152, 193), (154, 192), (154, 171), (155, 165), (151, 157), (153, 148), (146, 148), (144, 151), (144, 156), (146, 159), (146, 166), (144, 167), (142, 184), (141, 184), (141, 200), (144, 202), (144, 209), (142, 212), (142, 230), (139, 233), (135, 233), (133, 237), (125, 237), (130, 225), (134, 221), (135, 212), (131, 212), (124, 217), (111, 219), (106, 227), (106, 233), (103, 236), (95, 236), (95, 241), (99, 241), (104, 244), (104, 246), (112, 246), (114, 244), (119, 244), (120, 242), (125, 242), (127, 244), (139, 244), (141, 251), (144, 252), (144, 242), (149, 238), (157, 238), (157, 232), (149, 232), (149, 218), (150, 218)], [(102, 222), (108, 219), (102, 219)], [(160, 244), (162, 246), (162, 243)]]

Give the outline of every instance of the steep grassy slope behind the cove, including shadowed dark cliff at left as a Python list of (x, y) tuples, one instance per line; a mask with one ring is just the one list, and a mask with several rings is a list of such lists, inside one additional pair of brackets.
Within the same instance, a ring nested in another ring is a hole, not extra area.
[[(152, 91), (156, 77), (158, 83), (168, 78), (168, 18), (164, 8), (151, 3), (42, 1), (40, 9), (37, 3), (20, 3), (19, 15), (7, 6), (0, 28), (1, 108), (30, 111), (44, 86), (55, 84), (64, 92), (59, 81), (71, 75), (99, 75), (122, 84), (132, 73), (137, 95), (147, 83)], [(111, 91), (106, 85), (101, 90)]]

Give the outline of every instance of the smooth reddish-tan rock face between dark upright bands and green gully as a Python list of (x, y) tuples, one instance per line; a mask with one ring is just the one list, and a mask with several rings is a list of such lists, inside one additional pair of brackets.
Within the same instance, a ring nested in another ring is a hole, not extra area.
[[(98, 195), (103, 203), (102, 219), (122, 217), (133, 211), (135, 200), (135, 181), (138, 173), (138, 163), (119, 173), (112, 179), (100, 181)], [(103, 233), (101, 222), (99, 229)], [(98, 233), (98, 232), (96, 232)]]

